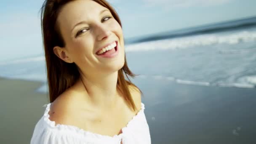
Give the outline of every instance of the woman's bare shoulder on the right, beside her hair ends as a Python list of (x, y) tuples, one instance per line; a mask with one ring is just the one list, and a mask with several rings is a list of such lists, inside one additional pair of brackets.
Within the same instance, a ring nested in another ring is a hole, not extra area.
[(141, 92), (133, 85), (129, 85), (128, 88), (130, 90), (133, 101), (139, 110), (141, 108)]

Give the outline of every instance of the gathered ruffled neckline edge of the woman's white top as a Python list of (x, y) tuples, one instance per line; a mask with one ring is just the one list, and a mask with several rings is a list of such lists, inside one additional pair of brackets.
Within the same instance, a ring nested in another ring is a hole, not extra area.
[(97, 137), (97, 138), (115, 138), (115, 137), (120, 137), (123, 135), (125, 129), (129, 128), (129, 125), (131, 125), (131, 123), (137, 118), (139, 117), (139, 115), (141, 115), (143, 112), (144, 112), (144, 109), (145, 109), (145, 106), (144, 104), (141, 102), (141, 109), (139, 110), (139, 112), (136, 113), (136, 115), (134, 115), (131, 120), (125, 125), (125, 127), (121, 128), (122, 130), (122, 133), (120, 134), (116, 134), (114, 136), (108, 136), (108, 135), (101, 135), (99, 133), (93, 133), (91, 131), (86, 131), (84, 130), (83, 128), (78, 128), (77, 126), (74, 126), (74, 125), (64, 125), (64, 124), (57, 124), (55, 125), (55, 121), (51, 121), (49, 119), (50, 115), (48, 114), (49, 111), (50, 111), (50, 107), (51, 107), (51, 104), (52, 103), (49, 103), (49, 104), (45, 104), (43, 107), (46, 106), (46, 109), (45, 109), (45, 112), (44, 112), (44, 119), (45, 122), (51, 126), (52, 128), (58, 128), (59, 130), (69, 130), (69, 131), (76, 131), (77, 133), (80, 133), (80, 134), (83, 134), (83, 135), (90, 135), (90, 136), (93, 136), (93, 137)]

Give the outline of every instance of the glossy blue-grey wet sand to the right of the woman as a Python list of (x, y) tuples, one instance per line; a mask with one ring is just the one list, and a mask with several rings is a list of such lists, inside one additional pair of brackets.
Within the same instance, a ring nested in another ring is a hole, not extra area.
[(256, 144), (256, 88), (137, 79), (152, 144)]

